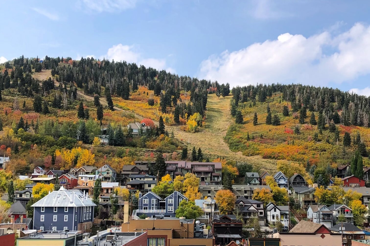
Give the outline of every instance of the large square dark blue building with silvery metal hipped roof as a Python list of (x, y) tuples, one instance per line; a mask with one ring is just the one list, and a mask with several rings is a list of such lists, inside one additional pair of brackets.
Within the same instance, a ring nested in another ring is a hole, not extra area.
[(92, 227), (94, 207), (87, 194), (62, 186), (35, 202), (33, 229), (42, 231), (83, 231)]

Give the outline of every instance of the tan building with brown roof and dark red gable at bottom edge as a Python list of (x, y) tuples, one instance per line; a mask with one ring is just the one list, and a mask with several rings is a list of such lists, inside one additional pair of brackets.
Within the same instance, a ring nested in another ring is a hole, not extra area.
[(300, 221), (290, 232), (277, 232), (268, 236), (280, 238), (280, 245), (341, 246), (342, 235), (333, 233), (326, 226), (309, 221)]

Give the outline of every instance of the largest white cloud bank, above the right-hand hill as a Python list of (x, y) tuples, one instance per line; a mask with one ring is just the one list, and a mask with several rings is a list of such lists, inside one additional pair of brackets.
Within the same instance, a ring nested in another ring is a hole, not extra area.
[[(326, 52), (326, 53), (325, 53)], [(281, 34), (239, 51), (212, 55), (199, 77), (231, 85), (350, 82), (370, 73), (370, 27), (357, 23), (333, 36), (324, 31), (308, 38)]]

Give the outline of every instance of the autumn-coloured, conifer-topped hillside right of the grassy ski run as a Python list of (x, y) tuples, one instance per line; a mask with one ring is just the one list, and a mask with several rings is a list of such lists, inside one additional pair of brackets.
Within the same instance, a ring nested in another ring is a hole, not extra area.
[(335, 176), (343, 164), (370, 166), (370, 98), (300, 84), (235, 87), (232, 93), (235, 124), (225, 137), (232, 151), (278, 160), (277, 169), (316, 182), (320, 174)]

